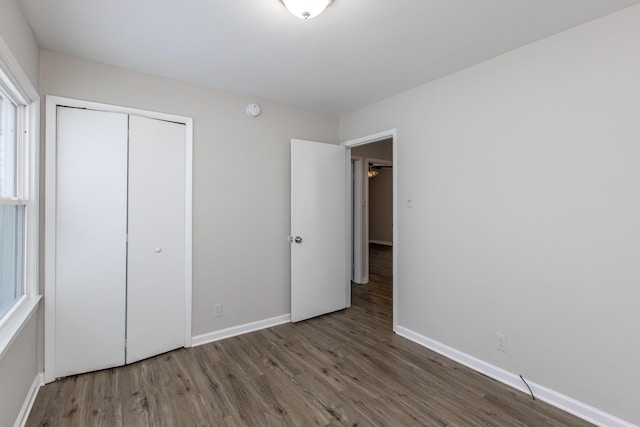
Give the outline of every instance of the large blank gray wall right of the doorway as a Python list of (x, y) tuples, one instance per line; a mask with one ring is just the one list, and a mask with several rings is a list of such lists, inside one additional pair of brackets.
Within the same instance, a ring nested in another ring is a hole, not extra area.
[(638, 46), (635, 6), (341, 117), (397, 129), (399, 325), (636, 424)]

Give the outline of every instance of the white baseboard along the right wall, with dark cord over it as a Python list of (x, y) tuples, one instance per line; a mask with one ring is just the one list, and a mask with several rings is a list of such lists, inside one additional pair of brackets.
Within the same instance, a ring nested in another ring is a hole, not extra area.
[[(474, 371), (480, 372), (510, 387), (520, 390), (523, 393), (529, 394), (529, 390), (526, 388), (519, 375), (505, 371), (502, 368), (498, 368), (497, 366), (451, 348), (438, 341), (432, 340), (431, 338), (427, 338), (405, 327), (398, 326), (396, 328), (396, 333), (422, 345), (423, 347), (427, 347), (436, 353), (440, 353), (451, 360), (465, 365)], [(536, 399), (547, 402), (556, 408), (562, 409), (563, 411), (580, 417), (592, 424), (602, 427), (637, 427), (635, 424), (622, 420), (614, 415), (587, 405), (586, 403), (577, 401), (562, 393), (558, 393), (557, 391), (536, 384), (533, 381), (527, 380), (527, 383), (529, 384), (529, 387), (531, 387)]]

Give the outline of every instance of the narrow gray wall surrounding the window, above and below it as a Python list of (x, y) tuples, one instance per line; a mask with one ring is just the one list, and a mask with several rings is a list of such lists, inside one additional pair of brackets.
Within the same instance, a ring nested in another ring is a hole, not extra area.
[[(39, 49), (31, 27), (15, 0), (0, 0), (0, 11), (0, 37), (38, 89)], [(33, 316), (0, 359), (0, 426), (16, 421), (37, 376), (39, 324), (38, 316)]]

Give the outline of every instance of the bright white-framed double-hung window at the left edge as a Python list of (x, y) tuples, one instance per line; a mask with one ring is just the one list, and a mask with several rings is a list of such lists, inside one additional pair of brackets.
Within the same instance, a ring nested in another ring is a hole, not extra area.
[(0, 358), (38, 306), (37, 91), (0, 38)]

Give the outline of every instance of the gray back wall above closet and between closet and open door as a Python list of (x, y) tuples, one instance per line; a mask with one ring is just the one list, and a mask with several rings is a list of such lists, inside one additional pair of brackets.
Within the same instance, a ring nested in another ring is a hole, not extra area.
[[(290, 313), (291, 138), (337, 143), (338, 117), (42, 51), (41, 96), (193, 117), (193, 335)], [(223, 316), (213, 306), (223, 304)]]

